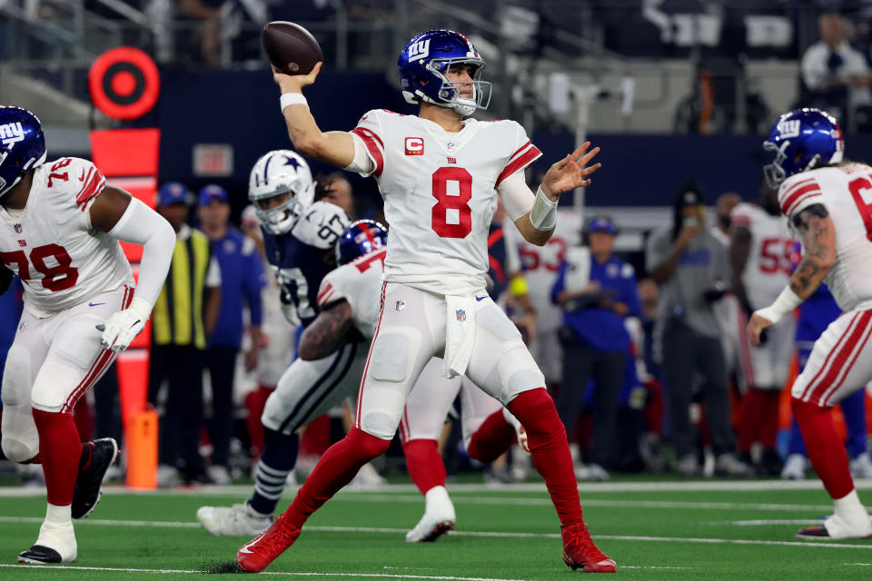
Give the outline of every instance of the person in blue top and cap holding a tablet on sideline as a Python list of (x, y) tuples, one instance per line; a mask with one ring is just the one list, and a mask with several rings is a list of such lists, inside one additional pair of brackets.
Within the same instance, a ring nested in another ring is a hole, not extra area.
[(589, 248), (567, 251), (551, 288), (551, 300), (563, 309), (563, 380), (557, 409), (571, 439), (588, 380), (594, 379), (586, 475), (598, 480), (609, 478), (607, 469), (617, 461), (619, 396), (629, 353), (624, 318), (638, 317), (641, 311), (636, 273), (612, 252), (617, 234), (608, 216), (590, 220), (584, 231)]

